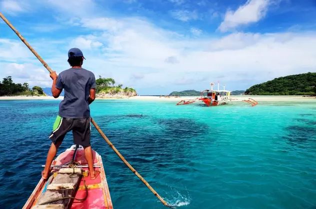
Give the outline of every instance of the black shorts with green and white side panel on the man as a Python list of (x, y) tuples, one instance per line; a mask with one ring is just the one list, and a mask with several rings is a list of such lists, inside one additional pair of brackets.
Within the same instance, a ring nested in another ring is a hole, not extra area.
[(49, 138), (54, 144), (62, 141), (66, 133), (72, 130), (74, 144), (90, 146), (90, 118), (62, 118), (58, 115), (52, 130)]

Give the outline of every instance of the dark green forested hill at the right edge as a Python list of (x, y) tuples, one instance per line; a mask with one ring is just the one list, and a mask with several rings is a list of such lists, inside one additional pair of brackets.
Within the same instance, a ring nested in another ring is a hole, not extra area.
[(248, 88), (246, 95), (316, 95), (316, 73), (275, 78)]

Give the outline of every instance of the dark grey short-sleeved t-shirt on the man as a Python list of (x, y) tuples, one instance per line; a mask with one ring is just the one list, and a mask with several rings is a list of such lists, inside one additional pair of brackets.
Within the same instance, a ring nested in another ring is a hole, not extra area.
[(56, 88), (64, 89), (59, 104), (59, 116), (63, 118), (88, 118), (90, 89), (95, 88), (95, 77), (83, 68), (70, 68), (59, 73)]

